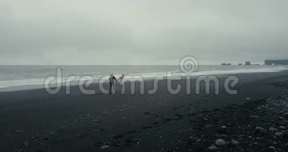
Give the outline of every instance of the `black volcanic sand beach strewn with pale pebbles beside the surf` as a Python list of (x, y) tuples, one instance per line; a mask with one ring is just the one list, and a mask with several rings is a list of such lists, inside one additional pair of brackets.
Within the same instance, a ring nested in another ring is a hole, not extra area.
[[(195, 94), (195, 79), (189, 95), (185, 89), (168, 93), (165, 80), (153, 95), (139, 90), (84, 95), (77, 86), (70, 95), (44, 89), (0, 92), (0, 151), (205, 152), (223, 139), (227, 143), (218, 152), (287, 152), (288, 72), (233, 76), (240, 79), (236, 95), (224, 91), (225, 76), (217, 76), (218, 95), (214, 89), (207, 95), (204, 88)], [(146, 80), (145, 88), (152, 84)]]

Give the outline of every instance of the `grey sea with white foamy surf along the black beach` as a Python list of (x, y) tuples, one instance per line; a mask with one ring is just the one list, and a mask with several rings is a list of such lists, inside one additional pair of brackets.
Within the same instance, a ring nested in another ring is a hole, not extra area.
[(153, 78), (155, 76), (205, 76), (205, 75), (227, 75), (239, 73), (259, 73), (259, 72), (281, 72), (288, 70), (288, 66), (218, 66), (218, 65), (202, 65), (194, 69), (193, 72), (185, 71), (178, 65), (171, 66), (0, 66), (0, 91), (13, 89), (29, 89), (29, 87), (16, 86), (43, 86), (47, 78), (53, 78), (57, 75), (57, 71), (61, 70), (61, 78), (67, 79), (69, 76), (75, 76), (73, 80), (81, 78), (100, 79), (107, 78), (114, 74), (119, 77), (125, 76), (141, 76), (143, 78)]

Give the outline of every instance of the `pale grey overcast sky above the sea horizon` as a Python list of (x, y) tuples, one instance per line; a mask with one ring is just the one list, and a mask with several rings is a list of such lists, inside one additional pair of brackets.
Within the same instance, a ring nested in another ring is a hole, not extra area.
[(0, 0), (0, 65), (288, 59), (288, 0)]

